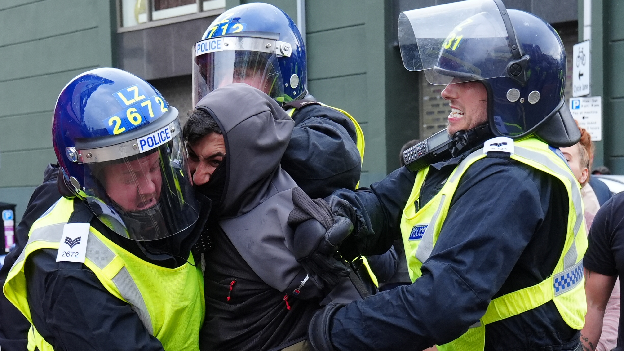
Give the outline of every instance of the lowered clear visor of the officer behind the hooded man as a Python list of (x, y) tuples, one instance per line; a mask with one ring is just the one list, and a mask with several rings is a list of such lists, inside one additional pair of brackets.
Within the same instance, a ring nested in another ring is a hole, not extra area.
[(275, 47), (275, 40), (261, 37), (217, 37), (195, 44), (193, 106), (209, 92), (232, 83), (246, 83), (283, 102)]

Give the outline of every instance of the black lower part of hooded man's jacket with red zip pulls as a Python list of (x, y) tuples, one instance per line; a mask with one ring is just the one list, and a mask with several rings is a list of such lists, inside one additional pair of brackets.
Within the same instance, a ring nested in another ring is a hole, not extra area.
[(281, 350), (305, 339), (318, 301), (290, 297), (288, 310), (285, 294), (258, 277), (218, 225), (208, 225), (214, 246), (205, 254), (200, 350)]

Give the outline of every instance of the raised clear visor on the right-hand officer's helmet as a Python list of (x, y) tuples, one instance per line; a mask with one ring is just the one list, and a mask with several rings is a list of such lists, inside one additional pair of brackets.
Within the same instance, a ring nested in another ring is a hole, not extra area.
[(409, 71), (431, 84), (507, 77), (514, 59), (492, 0), (452, 2), (399, 14), (399, 47)]

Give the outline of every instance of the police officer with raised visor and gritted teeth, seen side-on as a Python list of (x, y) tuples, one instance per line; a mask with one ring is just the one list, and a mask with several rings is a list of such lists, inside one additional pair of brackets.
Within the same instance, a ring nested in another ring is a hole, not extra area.
[(330, 230), (313, 230), (314, 220), (296, 229), (296, 249), (316, 253), (310, 270), (338, 245), (353, 257), (402, 237), (412, 279), (324, 307), (311, 349), (578, 349), (587, 239), (580, 190), (557, 149), (580, 137), (557, 32), (499, 0), (470, 0), (402, 12), (399, 43), (407, 69), (448, 84), (452, 157), (334, 192)]

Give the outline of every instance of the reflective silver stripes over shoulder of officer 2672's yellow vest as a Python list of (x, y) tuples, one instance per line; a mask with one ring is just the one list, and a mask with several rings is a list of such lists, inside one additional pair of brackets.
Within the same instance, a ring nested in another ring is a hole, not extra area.
[[(66, 223), (57, 223), (52, 225), (46, 225), (45, 227), (32, 230), (31, 235), (28, 238), (26, 245), (32, 244), (36, 241), (46, 242), (60, 242), (63, 236), (63, 228)], [(17, 257), (14, 264), (24, 260), (26, 250), (22, 250), (22, 253)], [(93, 262), (100, 269), (104, 269), (107, 265), (115, 259), (115, 253), (112, 252), (99, 237), (95, 236), (92, 232), (89, 232), (89, 239), (87, 239), (87, 253), (85, 255), (87, 259)], [(149, 311), (145, 305), (143, 295), (139, 291), (137, 284), (130, 276), (130, 273), (125, 267), (119, 270), (119, 273), (113, 277), (112, 282), (117, 286), (120, 294), (124, 299), (132, 305), (132, 310), (139, 315), (139, 319), (143, 323), (145, 329), (151, 334), (154, 332), (152, 327), (152, 319), (150, 319)]]

